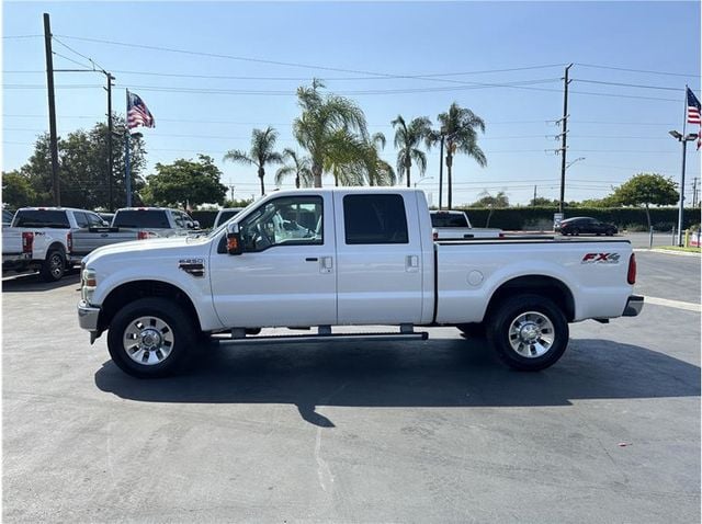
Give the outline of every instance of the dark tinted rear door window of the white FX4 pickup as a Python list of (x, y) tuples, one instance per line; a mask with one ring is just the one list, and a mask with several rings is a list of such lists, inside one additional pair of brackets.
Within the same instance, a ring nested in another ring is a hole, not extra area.
[(409, 243), (401, 195), (346, 195), (343, 225), (350, 246)]

